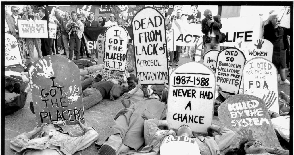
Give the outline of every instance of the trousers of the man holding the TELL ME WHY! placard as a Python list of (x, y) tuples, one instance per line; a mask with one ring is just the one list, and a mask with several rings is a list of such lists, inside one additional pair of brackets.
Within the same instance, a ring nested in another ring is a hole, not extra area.
[(41, 57), (43, 57), (42, 50), (41, 50), (40, 38), (26, 38), (26, 46), (29, 51), (30, 61), (32, 63), (35, 62), (35, 60), (34, 60), (34, 44), (35, 44), (37, 52), (38, 52), (38, 58), (40, 59)]

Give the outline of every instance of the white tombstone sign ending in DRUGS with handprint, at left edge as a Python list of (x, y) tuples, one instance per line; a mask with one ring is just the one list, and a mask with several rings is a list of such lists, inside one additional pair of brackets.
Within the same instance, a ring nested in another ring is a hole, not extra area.
[(18, 65), (19, 63), (24, 64), (21, 58), (21, 51), (19, 49), (19, 43), (15, 36), (9, 33), (4, 35), (4, 62), (5, 66)]

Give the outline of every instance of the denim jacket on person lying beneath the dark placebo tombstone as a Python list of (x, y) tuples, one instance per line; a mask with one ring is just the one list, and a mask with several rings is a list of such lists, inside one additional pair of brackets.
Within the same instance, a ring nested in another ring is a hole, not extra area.
[(60, 152), (71, 155), (76, 151), (86, 149), (98, 139), (98, 133), (92, 127), (86, 128), (85, 134), (79, 137), (71, 137), (68, 132), (65, 133), (61, 130), (50, 130), (49, 135), (41, 137), (44, 132), (41, 131), (34, 139), (30, 139), (31, 134), (24, 132), (11, 139), (10, 148), (17, 151), (15, 155), (21, 155), (26, 150), (42, 150), (45, 145), (50, 144), (60, 148)]

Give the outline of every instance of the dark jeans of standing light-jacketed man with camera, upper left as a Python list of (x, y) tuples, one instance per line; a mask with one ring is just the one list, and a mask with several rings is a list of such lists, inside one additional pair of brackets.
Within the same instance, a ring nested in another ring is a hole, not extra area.
[(69, 36), (69, 60), (73, 60), (74, 47), (76, 46), (76, 59), (80, 59), (80, 50), (81, 50), (81, 39), (78, 38), (78, 35)]

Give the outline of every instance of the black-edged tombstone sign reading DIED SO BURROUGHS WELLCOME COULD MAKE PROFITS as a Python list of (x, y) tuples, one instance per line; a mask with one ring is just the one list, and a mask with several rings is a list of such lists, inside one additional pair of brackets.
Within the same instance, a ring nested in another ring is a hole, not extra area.
[(230, 47), (220, 51), (216, 62), (216, 84), (224, 92), (239, 93), (244, 64), (245, 56), (240, 50)]

